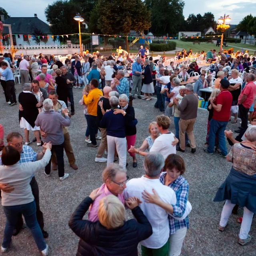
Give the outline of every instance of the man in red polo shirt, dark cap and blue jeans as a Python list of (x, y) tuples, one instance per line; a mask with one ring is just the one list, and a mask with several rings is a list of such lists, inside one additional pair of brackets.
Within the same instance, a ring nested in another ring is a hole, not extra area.
[(210, 98), (210, 106), (213, 108), (213, 117), (210, 121), (209, 146), (204, 150), (208, 154), (213, 154), (215, 137), (218, 136), (219, 148), (221, 150), (219, 156), (222, 157), (226, 157), (228, 154), (224, 134), (232, 105), (232, 94), (228, 91), (228, 86), (230, 86), (228, 80), (220, 80), (220, 94), (216, 99)]

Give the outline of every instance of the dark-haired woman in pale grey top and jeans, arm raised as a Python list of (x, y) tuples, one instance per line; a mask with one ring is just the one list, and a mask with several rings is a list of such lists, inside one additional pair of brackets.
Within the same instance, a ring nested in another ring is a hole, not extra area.
[(48, 245), (36, 219), (36, 203), (32, 194), (31, 176), (44, 168), (51, 158), (50, 144), (45, 143), (46, 149), (42, 160), (19, 164), (20, 153), (12, 146), (6, 146), (2, 151), (2, 164), (0, 166), (0, 183), (8, 183), (14, 190), (10, 193), (2, 191), (2, 206), (6, 215), (4, 238), (1, 252), (6, 252), (12, 241), (12, 232), (18, 221), (18, 214), (23, 214), (26, 224), (32, 233), (38, 249), (42, 255), (48, 255)]

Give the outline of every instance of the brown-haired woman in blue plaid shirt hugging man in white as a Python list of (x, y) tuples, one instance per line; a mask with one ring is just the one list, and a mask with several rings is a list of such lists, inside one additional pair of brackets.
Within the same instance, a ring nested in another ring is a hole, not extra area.
[(170, 226), (168, 256), (179, 256), (189, 228), (188, 214), (191, 210), (191, 204), (188, 202), (188, 182), (182, 177), (186, 167), (181, 156), (170, 154), (164, 162), (163, 169), (166, 172), (161, 173), (160, 182), (174, 190), (177, 204), (164, 203), (154, 190), (154, 194), (149, 194), (146, 190), (142, 194), (145, 202), (156, 204), (170, 213), (168, 216)]

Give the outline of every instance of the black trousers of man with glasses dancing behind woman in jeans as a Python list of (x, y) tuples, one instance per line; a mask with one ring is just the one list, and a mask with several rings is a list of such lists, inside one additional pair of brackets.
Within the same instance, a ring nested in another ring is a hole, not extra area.
[[(38, 184), (36, 182), (35, 176), (30, 181), (30, 186), (31, 186), (32, 194), (33, 194), (33, 196), (35, 198), (35, 202), (36, 202), (36, 218), (37, 218), (37, 221), (38, 221), (38, 224), (39, 224), (41, 230), (43, 231), (44, 230), (44, 216), (40, 210), (39, 189), (38, 189)], [(18, 222), (16, 224), (16, 229), (21, 229), (22, 226), (23, 226), (23, 219), (22, 219), (22, 214), (20, 214), (18, 216)]]

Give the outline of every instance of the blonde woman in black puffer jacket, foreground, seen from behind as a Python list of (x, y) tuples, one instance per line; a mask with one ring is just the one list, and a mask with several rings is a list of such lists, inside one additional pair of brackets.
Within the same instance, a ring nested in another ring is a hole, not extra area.
[(84, 214), (100, 193), (93, 190), (72, 214), (68, 225), (80, 237), (76, 256), (138, 256), (138, 243), (152, 235), (152, 226), (135, 198), (126, 206), (137, 219), (125, 221), (125, 208), (114, 195), (100, 200), (99, 221), (83, 220)]

